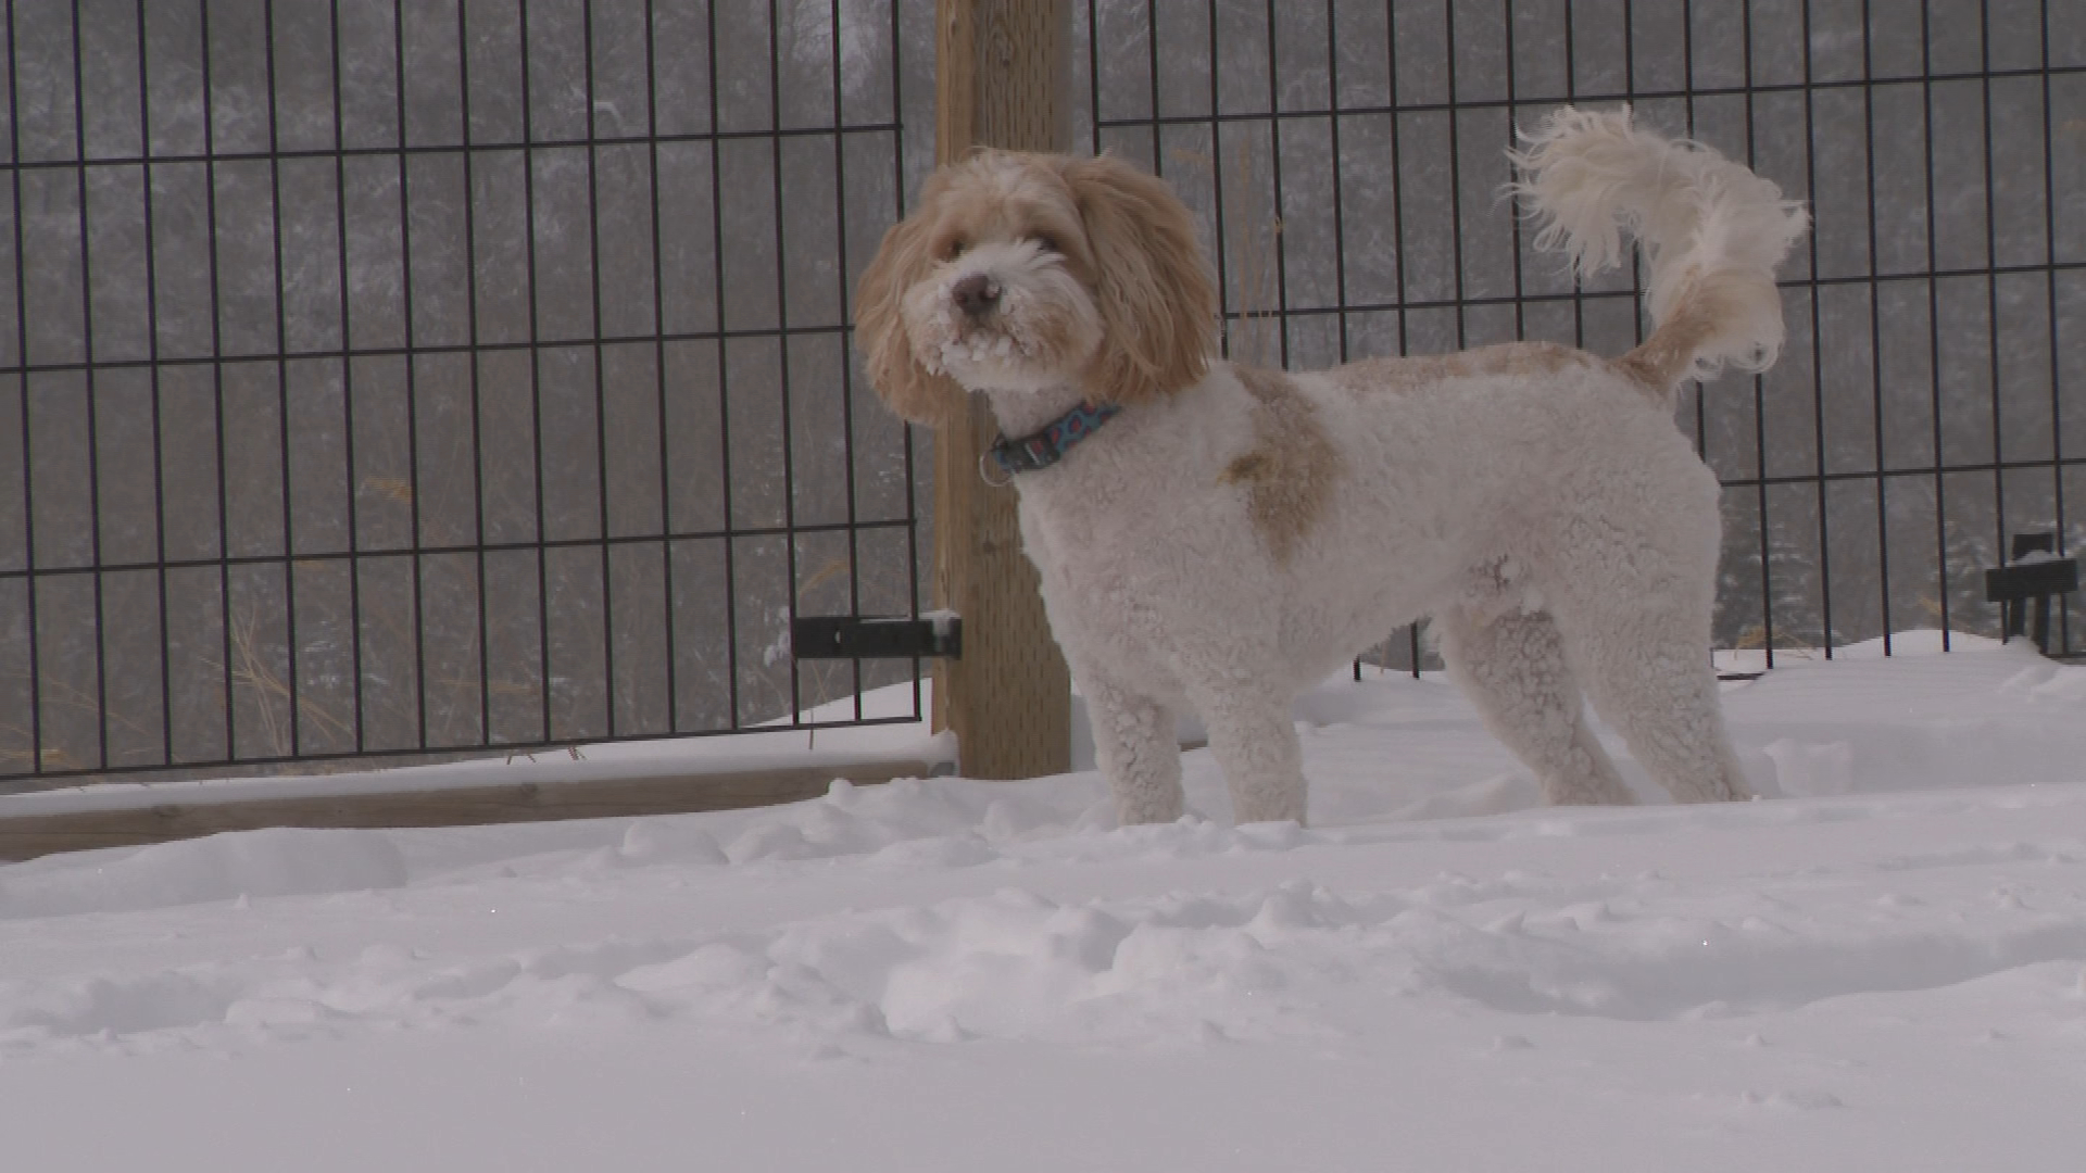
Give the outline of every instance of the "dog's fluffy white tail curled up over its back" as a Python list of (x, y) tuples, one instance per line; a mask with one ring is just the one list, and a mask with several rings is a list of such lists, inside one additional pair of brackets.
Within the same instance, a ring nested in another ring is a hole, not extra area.
[(1623, 357), (1627, 367), (1671, 392), (1725, 363), (1775, 363), (1775, 267), (1811, 223), (1802, 205), (1698, 142), (1633, 127), (1629, 106), (1564, 106), (1521, 138), (1514, 192), (1539, 225), (1537, 248), (1562, 248), (1581, 276), (1623, 261), (1621, 228), (1644, 248), (1656, 330)]

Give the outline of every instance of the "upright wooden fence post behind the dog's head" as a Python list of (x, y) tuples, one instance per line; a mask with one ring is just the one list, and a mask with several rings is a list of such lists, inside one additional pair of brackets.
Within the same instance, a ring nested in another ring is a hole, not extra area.
[[(1070, 0), (937, 0), (935, 163), (972, 146), (1072, 146)], [(1014, 488), (991, 488), (978, 455), (991, 411), (935, 436), (935, 595), (964, 616), (964, 657), (939, 662), (935, 726), (957, 737), (968, 779), (1072, 768), (1072, 676), (1051, 641), (1022, 553)]]

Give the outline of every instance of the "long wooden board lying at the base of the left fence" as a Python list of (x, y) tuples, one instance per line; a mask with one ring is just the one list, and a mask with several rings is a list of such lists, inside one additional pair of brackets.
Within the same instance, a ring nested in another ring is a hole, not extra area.
[(557, 818), (634, 818), (738, 810), (820, 797), (834, 779), (855, 785), (924, 779), (926, 760), (836, 766), (784, 766), (720, 774), (649, 779), (584, 779), (503, 783), (428, 791), (265, 797), (161, 804), (129, 810), (0, 816), (0, 860), (33, 860), (54, 852), (136, 847), (263, 827), (382, 829), (469, 827), (480, 822), (549, 822)]

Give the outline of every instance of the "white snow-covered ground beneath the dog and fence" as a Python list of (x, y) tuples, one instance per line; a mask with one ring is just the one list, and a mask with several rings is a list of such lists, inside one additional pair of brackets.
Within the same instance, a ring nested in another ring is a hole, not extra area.
[(0, 866), (0, 1169), (2086, 1169), (2086, 668), (1930, 643), (1731, 687), (1744, 806), (1539, 808), (1371, 676), (1310, 831), (1197, 751), (1129, 831), (1087, 772)]

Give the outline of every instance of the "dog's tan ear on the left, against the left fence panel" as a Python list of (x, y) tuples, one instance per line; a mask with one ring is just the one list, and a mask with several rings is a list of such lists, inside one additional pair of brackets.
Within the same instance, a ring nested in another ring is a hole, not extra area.
[(870, 386), (901, 417), (930, 428), (964, 417), (964, 388), (922, 367), (905, 332), (905, 292), (935, 267), (928, 228), (941, 188), (939, 175), (928, 179), (920, 207), (891, 225), (855, 286), (855, 342)]

